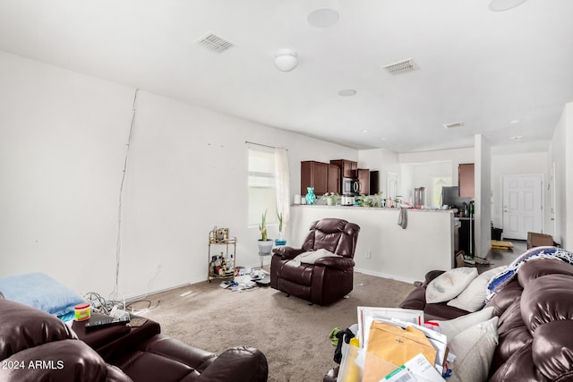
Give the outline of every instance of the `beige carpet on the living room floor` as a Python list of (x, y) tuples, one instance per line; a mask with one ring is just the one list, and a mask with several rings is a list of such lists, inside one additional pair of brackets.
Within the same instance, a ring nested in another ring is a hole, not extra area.
[(413, 288), (355, 273), (354, 291), (322, 307), (270, 287), (231, 292), (213, 281), (151, 295), (133, 308), (150, 306), (142, 315), (158, 321), (163, 333), (210, 352), (236, 345), (261, 349), (269, 361), (269, 381), (320, 382), (336, 365), (330, 331), (354, 324), (357, 306), (397, 307)]

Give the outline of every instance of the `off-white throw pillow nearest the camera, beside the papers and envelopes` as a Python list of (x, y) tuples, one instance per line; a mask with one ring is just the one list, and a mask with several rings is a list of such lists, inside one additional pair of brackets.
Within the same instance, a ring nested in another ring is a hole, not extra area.
[(499, 319), (494, 317), (470, 327), (448, 341), (449, 352), (456, 355), (449, 382), (487, 380), (498, 344)]

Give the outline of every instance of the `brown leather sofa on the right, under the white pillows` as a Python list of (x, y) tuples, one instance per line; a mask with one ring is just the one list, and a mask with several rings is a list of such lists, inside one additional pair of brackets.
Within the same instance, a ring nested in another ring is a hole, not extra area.
[[(400, 306), (424, 310), (425, 319), (457, 317), (455, 308), (425, 303), (423, 287), (438, 275), (440, 271), (426, 275)], [(487, 306), (500, 317), (491, 382), (573, 381), (573, 265), (530, 259)]]

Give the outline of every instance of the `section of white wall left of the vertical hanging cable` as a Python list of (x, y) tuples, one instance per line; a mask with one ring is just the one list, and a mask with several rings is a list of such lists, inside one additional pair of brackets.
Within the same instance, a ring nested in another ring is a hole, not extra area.
[(133, 89), (4, 53), (0, 83), (0, 276), (109, 293)]

